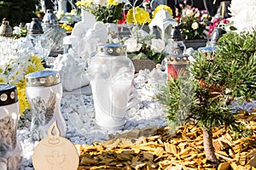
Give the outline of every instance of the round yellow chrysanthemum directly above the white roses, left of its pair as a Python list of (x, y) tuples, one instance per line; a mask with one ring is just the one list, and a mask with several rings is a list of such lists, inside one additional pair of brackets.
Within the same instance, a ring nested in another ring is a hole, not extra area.
[[(135, 14), (134, 14), (135, 13)], [(134, 18), (135, 16), (135, 18)], [(126, 22), (127, 23), (137, 23), (137, 24), (145, 24), (150, 23), (150, 15), (147, 11), (145, 11), (143, 8), (136, 7), (135, 12), (133, 11), (133, 8), (130, 8), (127, 15), (126, 15)]]

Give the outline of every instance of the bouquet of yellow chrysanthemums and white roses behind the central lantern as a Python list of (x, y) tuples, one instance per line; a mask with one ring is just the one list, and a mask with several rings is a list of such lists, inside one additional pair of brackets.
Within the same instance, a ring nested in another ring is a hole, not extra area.
[[(172, 16), (172, 10), (166, 5), (159, 5), (153, 11), (152, 17), (161, 9), (167, 10)], [(127, 46), (128, 56), (131, 59), (150, 59), (158, 64), (166, 57), (164, 40), (157, 38), (155, 34), (148, 33), (148, 26), (152, 18), (148, 11), (140, 7), (130, 8), (126, 15), (126, 22), (134, 24), (131, 37), (124, 40)]]

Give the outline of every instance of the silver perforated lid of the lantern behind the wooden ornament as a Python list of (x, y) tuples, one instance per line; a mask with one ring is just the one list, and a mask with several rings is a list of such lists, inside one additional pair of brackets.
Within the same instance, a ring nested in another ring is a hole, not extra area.
[(58, 71), (36, 71), (26, 75), (27, 87), (49, 87), (61, 82)]

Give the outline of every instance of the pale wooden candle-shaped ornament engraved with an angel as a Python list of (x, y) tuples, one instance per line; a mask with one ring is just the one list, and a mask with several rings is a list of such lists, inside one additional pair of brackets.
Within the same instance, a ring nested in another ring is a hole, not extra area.
[(32, 156), (35, 170), (76, 170), (79, 167), (79, 154), (75, 146), (60, 136), (61, 132), (55, 121), (42, 139)]

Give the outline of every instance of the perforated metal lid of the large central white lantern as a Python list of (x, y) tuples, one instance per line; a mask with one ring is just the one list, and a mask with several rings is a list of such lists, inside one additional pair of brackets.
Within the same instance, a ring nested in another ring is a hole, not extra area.
[(113, 55), (113, 56), (122, 56), (126, 55), (126, 45), (119, 43), (104, 43), (97, 45), (96, 48), (97, 54), (100, 55)]

